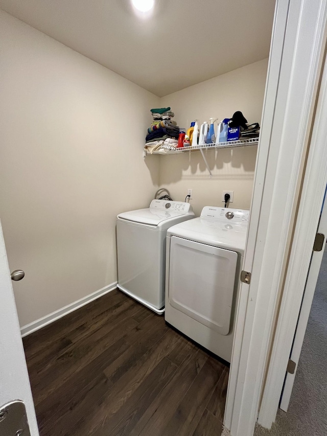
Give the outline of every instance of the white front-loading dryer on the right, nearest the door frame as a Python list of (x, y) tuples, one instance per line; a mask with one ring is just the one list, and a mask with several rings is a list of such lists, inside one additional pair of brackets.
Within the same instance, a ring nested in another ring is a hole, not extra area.
[(206, 206), (167, 231), (165, 319), (230, 362), (249, 211)]

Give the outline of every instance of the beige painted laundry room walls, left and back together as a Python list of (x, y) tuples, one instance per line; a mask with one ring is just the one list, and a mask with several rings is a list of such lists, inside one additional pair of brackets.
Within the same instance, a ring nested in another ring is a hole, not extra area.
[(267, 60), (159, 99), (0, 11), (1, 218), (21, 326), (117, 280), (115, 217), (146, 207), (158, 186), (195, 213), (249, 208), (256, 147), (142, 156), (151, 107), (188, 127), (242, 110), (261, 119)]

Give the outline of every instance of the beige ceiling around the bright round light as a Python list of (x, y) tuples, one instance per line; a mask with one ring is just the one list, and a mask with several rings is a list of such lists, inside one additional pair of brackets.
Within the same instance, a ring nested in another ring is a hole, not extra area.
[(268, 57), (273, 0), (0, 0), (0, 8), (162, 97)]

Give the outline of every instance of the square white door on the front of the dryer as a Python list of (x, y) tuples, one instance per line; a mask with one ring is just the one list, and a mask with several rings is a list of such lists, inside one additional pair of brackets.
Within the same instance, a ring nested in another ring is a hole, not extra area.
[(235, 251), (172, 236), (170, 305), (210, 329), (227, 335), (237, 259)]

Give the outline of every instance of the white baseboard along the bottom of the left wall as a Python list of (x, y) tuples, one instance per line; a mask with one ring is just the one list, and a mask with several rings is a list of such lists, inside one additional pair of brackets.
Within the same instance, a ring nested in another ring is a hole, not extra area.
[(113, 282), (108, 286), (105, 286), (102, 289), (99, 289), (96, 292), (92, 292), (89, 295), (86, 295), (85, 297), (81, 298), (80, 300), (75, 301), (74, 303), (68, 304), (65, 307), (62, 307), (61, 309), (56, 310), (55, 312), (50, 313), (49, 315), (45, 315), (40, 319), (37, 319), (36, 321), (33, 321), (33, 323), (27, 324), (24, 327), (20, 328), (20, 334), (21, 337), (25, 337), (33, 332), (36, 332), (37, 330), (41, 329), (42, 327), (47, 326), (48, 324), (53, 323), (59, 318), (62, 318), (65, 315), (68, 315), (68, 313), (74, 312), (74, 310), (79, 309), (82, 306), (85, 306), (86, 304), (90, 303), (91, 301), (97, 300), (102, 295), (107, 294), (108, 292), (113, 291), (117, 287), (117, 282)]

